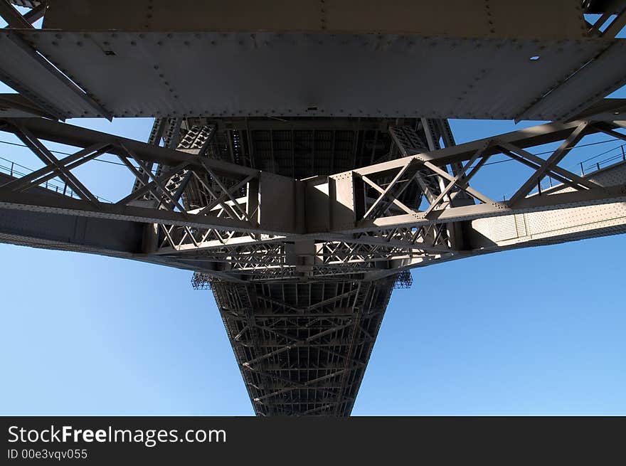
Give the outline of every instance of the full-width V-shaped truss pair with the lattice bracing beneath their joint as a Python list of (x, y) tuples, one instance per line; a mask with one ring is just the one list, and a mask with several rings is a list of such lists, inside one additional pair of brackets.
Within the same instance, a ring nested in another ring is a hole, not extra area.
[[(179, 150), (173, 150), (48, 120), (0, 121), (45, 164), (0, 186), (2, 208), (143, 224), (141, 247), (134, 254), (210, 274), (209, 280), (390, 274), (471, 254), (468, 222), (626, 199), (619, 176), (598, 184), (558, 166), (585, 134), (626, 137), (611, 121), (540, 125), (304, 181), (208, 157), (210, 138), (199, 143), (203, 152), (192, 147), (195, 136), (188, 142), (183, 137)], [(43, 140), (85, 148), (56, 159)], [(534, 145), (558, 141), (561, 147), (546, 159), (529, 152)], [(132, 194), (116, 203), (99, 201), (72, 174), (104, 153), (119, 157), (137, 180)], [(398, 152), (409, 153), (406, 147)], [(494, 201), (470, 186), (495, 154), (532, 170), (525, 182), (511, 186), (516, 194), (508, 201)], [(419, 184), (409, 189), (418, 176), (437, 179), (423, 201), (418, 200), (424, 193)], [(546, 176), (561, 189), (529, 196)], [(64, 179), (82, 199), (35, 189), (53, 177)], [(298, 220), (302, 216), (305, 223)]]

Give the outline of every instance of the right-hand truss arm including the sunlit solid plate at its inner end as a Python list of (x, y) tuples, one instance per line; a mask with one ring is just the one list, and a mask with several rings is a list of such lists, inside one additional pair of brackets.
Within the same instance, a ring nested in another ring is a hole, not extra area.
[[(318, 195), (319, 192), (329, 193), (329, 210), (333, 213), (319, 231), (354, 234), (388, 228), (419, 228), (433, 223), (469, 221), (487, 216), (622, 201), (625, 196), (623, 181), (617, 182), (615, 186), (598, 186), (557, 166), (585, 134), (603, 131), (614, 137), (625, 137), (615, 130), (617, 127), (618, 125), (611, 122), (595, 122), (592, 125), (588, 122), (552, 123), (329, 176), (327, 184), (315, 181)], [(523, 149), (560, 140), (563, 141), (561, 147), (545, 160)], [(512, 186), (516, 191), (509, 200), (494, 201), (469, 185), (470, 179), (494, 154), (507, 155), (534, 170), (521, 186)], [(468, 163), (459, 174), (452, 176), (445, 166), (459, 162)], [(428, 202), (425, 210), (398, 205), (393, 196), (394, 189), (401, 192), (415, 178), (418, 166), (423, 167), (427, 172), (426, 176), (430, 174), (439, 177), (446, 183), (440, 194)], [(575, 191), (527, 197), (531, 189), (545, 176), (551, 176)], [(375, 195), (369, 196), (372, 186)], [(450, 201), (461, 193), (465, 193), (471, 202), (450, 205)], [(450, 198), (447, 201), (446, 196)], [(319, 203), (323, 204), (324, 202)], [(392, 208), (394, 205), (395, 209)]]

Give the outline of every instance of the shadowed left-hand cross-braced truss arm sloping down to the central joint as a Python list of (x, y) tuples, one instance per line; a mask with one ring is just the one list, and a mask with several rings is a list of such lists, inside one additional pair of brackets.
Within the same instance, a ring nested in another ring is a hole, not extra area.
[[(277, 175), (261, 174), (258, 170), (243, 166), (206, 157), (193, 157), (165, 147), (70, 127), (49, 120), (6, 119), (0, 123), (4, 123), (1, 130), (16, 134), (46, 164), (43, 169), (29, 174), (24, 179), (14, 180), (0, 187), (2, 191), (0, 205), (4, 208), (159, 223), (169, 228), (169, 236), (174, 227), (183, 228), (188, 235), (187, 229), (190, 227), (245, 233), (257, 232), (268, 223), (268, 216), (271, 221), (269, 214), (260, 218), (262, 212), (258, 208), (258, 198), (262, 186), (271, 185), (263, 189), (264, 193), (266, 191), (271, 193), (273, 186), (282, 184), (292, 186), (292, 181)], [(86, 145), (85, 149), (60, 161), (46, 148), (43, 139), (78, 147)], [(115, 154), (141, 186), (115, 203), (99, 201), (71, 172), (72, 169), (105, 153)], [(152, 173), (151, 164), (154, 162), (160, 164), (162, 172), (160, 176)], [(162, 169), (164, 166), (167, 168)], [(215, 204), (216, 208), (194, 209), (183, 206), (181, 197), (184, 189), (174, 192), (168, 185), (181, 173), (184, 174), (186, 182), (193, 176), (198, 182), (196, 188), (203, 198), (210, 205)], [(80, 199), (42, 196), (28, 192), (28, 188), (54, 176), (59, 176), (65, 181)], [(247, 198), (242, 203), (236, 199), (240, 196), (241, 190), (247, 193)], [(147, 193), (157, 201), (156, 204), (150, 205), (150, 201), (139, 199)], [(271, 194), (266, 196), (269, 201), (272, 200)], [(280, 231), (280, 228), (278, 230)], [(193, 238), (193, 235), (191, 237)], [(171, 245), (175, 245), (173, 240)]]

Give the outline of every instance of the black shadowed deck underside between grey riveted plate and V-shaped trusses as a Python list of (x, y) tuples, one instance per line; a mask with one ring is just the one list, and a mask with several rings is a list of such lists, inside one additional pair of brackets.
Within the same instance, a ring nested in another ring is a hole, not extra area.
[[(206, 118), (189, 118), (188, 125), (210, 125)], [(395, 120), (377, 118), (223, 119), (210, 157), (303, 179), (333, 174), (397, 156), (387, 127)], [(403, 120), (406, 124), (415, 120)], [(395, 151), (395, 152), (394, 152)], [(392, 153), (393, 152), (393, 153)]]

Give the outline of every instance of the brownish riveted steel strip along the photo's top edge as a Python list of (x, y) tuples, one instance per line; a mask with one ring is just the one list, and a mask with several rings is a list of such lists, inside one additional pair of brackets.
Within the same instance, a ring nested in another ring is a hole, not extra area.
[(44, 28), (585, 38), (580, 0), (48, 0)]

